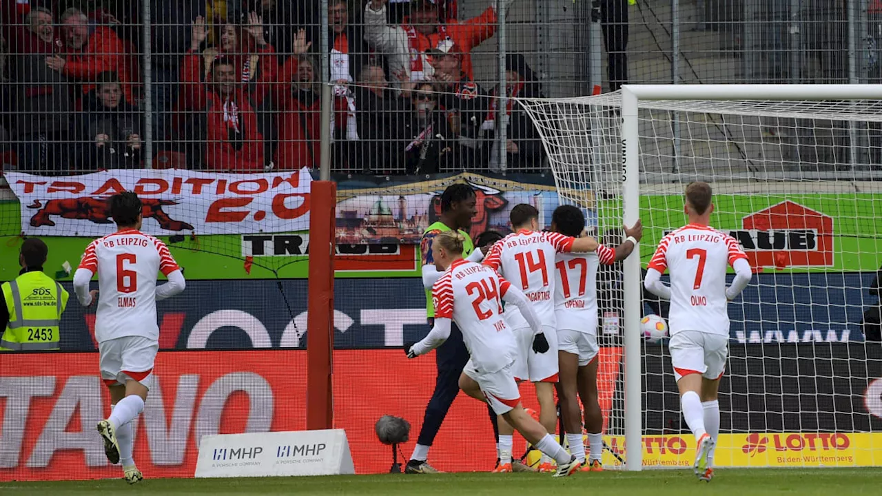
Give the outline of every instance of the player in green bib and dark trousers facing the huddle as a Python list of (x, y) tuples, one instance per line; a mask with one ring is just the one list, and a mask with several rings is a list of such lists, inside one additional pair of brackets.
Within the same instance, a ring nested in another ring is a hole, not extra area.
[[(432, 304), (431, 289), (432, 285), (435, 284), (442, 274), (435, 267), (435, 260), (432, 258), (433, 241), (437, 235), (443, 232), (459, 232), (465, 238), (463, 254), (471, 261), (480, 262), (484, 254), (481, 250), (475, 250), (471, 238), (468, 237), (468, 229), (472, 227), (472, 217), (475, 217), (477, 213), (475, 190), (468, 184), (451, 184), (441, 194), (440, 219), (438, 222), (430, 225), (422, 235), (422, 240), (420, 241), (422, 285), (426, 289), (426, 314), (430, 327), (434, 324), (435, 318), (435, 305)], [(416, 440), (414, 453), (410, 456), (407, 465), (405, 465), (404, 472), (407, 474), (431, 474), (438, 472), (427, 462), (429, 448), (435, 441), (435, 436), (444, 422), (447, 410), (450, 410), (450, 405), (456, 399), (456, 395), (460, 393), (460, 373), (462, 373), (462, 368), (466, 366), (468, 361), (468, 349), (466, 349), (466, 345), (462, 341), (460, 329), (456, 325), (451, 328), (450, 338), (443, 346), (437, 349), (435, 361), (437, 364), (435, 390), (432, 392), (429, 404), (426, 405), (426, 412), (422, 417), (422, 427), (420, 428), (420, 436)], [(496, 414), (492, 410), (490, 410), (490, 417), (494, 424), (494, 432), (496, 432)]]

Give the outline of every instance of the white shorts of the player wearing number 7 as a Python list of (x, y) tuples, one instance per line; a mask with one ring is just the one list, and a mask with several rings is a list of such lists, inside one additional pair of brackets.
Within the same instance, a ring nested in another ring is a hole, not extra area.
[(668, 349), (676, 380), (691, 373), (701, 374), (705, 379), (717, 380), (726, 370), (729, 336), (701, 331), (679, 331), (671, 336)]

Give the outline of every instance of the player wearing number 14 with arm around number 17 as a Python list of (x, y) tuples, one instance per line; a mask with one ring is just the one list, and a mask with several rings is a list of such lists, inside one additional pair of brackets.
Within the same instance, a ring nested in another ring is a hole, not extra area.
[[(532, 205), (520, 204), (510, 214), (515, 232), (504, 237), (484, 259), (484, 265), (496, 270), (502, 277), (522, 289), (539, 316), (544, 338), (552, 350), (557, 350), (557, 326), (554, 314), (555, 255), (558, 252), (594, 252), (600, 246), (594, 238), (574, 238), (558, 233), (539, 231), (539, 211)], [(539, 400), (539, 422), (550, 432), (557, 427), (557, 409), (554, 404), (554, 385), (557, 382), (557, 352), (537, 353), (531, 349), (533, 332), (519, 308), (505, 312), (505, 321), (512, 327), (518, 342), (518, 357), (514, 377), (529, 380), (536, 387)], [(500, 460), (497, 472), (512, 470), (512, 426), (499, 422)], [(554, 468), (551, 459), (543, 456), (539, 471)]]

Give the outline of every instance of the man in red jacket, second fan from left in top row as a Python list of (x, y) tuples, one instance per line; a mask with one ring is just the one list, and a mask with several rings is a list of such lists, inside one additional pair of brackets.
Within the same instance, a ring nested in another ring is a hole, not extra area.
[(81, 81), (83, 94), (95, 85), (93, 81), (101, 72), (116, 72), (116, 78), (123, 86), (125, 100), (135, 103), (132, 83), (136, 82), (131, 73), (125, 44), (108, 26), (95, 26), (89, 23), (82, 11), (71, 8), (61, 16), (64, 57), (48, 56), (46, 65), (59, 71), (70, 79)]

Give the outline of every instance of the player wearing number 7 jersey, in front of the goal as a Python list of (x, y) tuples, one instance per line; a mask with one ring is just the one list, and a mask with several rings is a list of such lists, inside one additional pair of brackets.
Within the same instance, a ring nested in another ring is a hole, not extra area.
[[(670, 361), (680, 390), (680, 408), (695, 440), (695, 474), (714, 477), (714, 446), (720, 433), (717, 390), (729, 355), (732, 301), (751, 281), (751, 265), (735, 238), (709, 227), (714, 212), (709, 184), (686, 186), (689, 223), (662, 237), (649, 261), (644, 286), (670, 300)], [(726, 266), (735, 279), (726, 287)], [(661, 281), (670, 271), (670, 287)]]

